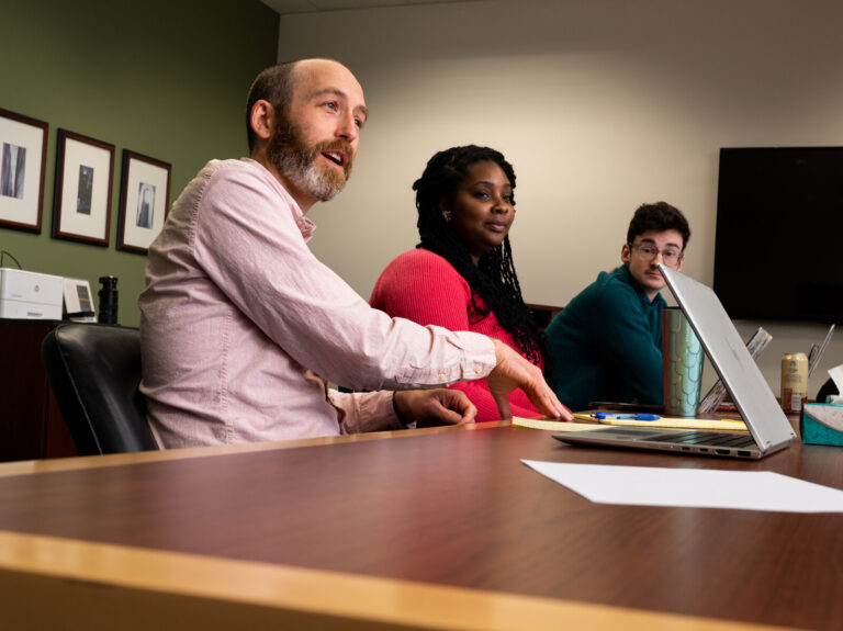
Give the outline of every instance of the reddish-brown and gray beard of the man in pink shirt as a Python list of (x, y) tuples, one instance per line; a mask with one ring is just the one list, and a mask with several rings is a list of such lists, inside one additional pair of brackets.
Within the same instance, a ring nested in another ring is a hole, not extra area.
[(279, 125), (276, 128), (268, 155), (291, 184), (322, 202), (336, 198), (346, 185), (345, 171), (322, 171), (316, 162), (321, 153), (305, 146), (299, 131), (291, 125)]

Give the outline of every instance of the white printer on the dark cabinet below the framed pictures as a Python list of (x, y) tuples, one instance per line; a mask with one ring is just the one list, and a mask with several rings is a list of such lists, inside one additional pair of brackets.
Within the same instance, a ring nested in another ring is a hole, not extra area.
[(0, 268), (0, 318), (61, 319), (64, 278)]

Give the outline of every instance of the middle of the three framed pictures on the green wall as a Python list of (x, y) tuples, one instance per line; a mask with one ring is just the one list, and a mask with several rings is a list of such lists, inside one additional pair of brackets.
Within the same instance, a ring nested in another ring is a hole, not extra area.
[(53, 237), (109, 245), (114, 145), (58, 131)]

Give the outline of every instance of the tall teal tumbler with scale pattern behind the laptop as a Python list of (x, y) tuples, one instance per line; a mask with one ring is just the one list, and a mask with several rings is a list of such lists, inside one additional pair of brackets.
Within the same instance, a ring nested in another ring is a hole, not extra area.
[(665, 415), (697, 415), (705, 357), (702, 346), (682, 309), (665, 307), (662, 312)]

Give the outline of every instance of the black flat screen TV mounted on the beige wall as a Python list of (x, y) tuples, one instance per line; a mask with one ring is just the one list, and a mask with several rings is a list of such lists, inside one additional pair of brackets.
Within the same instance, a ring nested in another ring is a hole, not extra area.
[(843, 323), (843, 147), (720, 149), (713, 289), (735, 319)]

